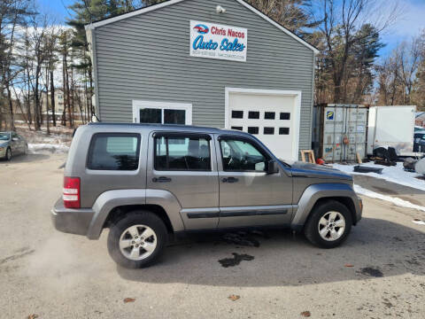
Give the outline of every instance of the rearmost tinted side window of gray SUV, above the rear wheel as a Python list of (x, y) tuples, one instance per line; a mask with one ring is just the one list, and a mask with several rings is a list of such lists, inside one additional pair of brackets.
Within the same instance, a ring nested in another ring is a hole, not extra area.
[(136, 170), (139, 167), (140, 135), (98, 133), (90, 143), (87, 167), (96, 170)]

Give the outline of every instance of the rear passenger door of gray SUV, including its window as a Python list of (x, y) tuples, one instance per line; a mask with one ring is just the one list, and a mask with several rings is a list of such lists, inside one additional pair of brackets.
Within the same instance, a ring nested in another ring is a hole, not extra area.
[(182, 206), (187, 230), (219, 222), (219, 180), (212, 136), (182, 132), (151, 135), (147, 185), (171, 192)]

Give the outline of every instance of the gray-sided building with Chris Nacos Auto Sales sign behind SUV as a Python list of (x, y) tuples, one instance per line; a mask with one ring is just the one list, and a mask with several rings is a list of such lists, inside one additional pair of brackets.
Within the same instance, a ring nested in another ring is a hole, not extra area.
[(317, 50), (243, 0), (169, 0), (86, 30), (101, 121), (242, 129), (285, 159), (311, 148)]

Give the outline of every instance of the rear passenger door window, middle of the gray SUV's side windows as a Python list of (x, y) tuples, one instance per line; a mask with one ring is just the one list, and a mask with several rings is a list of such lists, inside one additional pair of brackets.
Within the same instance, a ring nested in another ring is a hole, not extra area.
[(155, 137), (156, 170), (211, 170), (210, 140), (200, 136)]

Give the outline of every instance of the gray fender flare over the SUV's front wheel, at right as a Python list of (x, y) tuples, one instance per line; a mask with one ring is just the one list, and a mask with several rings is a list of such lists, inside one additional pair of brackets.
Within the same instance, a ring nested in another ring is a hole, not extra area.
[(355, 208), (353, 222), (359, 219), (361, 208), (359, 198), (352, 186), (346, 183), (318, 183), (308, 186), (298, 201), (298, 209), (292, 218), (290, 228), (292, 230), (302, 230), (305, 222), (311, 213), (313, 206), (321, 198), (350, 198)]

